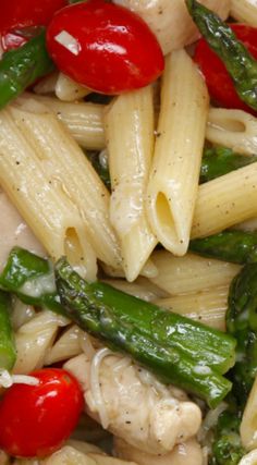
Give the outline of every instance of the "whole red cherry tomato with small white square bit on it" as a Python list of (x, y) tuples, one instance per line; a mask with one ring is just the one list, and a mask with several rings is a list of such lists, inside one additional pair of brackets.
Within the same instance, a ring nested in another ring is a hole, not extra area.
[(105, 0), (60, 10), (49, 25), (47, 46), (64, 74), (103, 94), (146, 86), (164, 66), (160, 46), (147, 24), (130, 10)]

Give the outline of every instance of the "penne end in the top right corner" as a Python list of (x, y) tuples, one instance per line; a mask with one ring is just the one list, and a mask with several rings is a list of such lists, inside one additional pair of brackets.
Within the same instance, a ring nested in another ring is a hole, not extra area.
[(230, 15), (241, 23), (257, 26), (256, 0), (231, 0)]

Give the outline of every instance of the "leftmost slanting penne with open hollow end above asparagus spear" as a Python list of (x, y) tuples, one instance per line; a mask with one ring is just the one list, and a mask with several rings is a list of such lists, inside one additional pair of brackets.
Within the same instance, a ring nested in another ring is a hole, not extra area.
[[(54, 260), (66, 255), (77, 271), (94, 280), (96, 254), (86, 223), (65, 193), (64, 180), (57, 175), (59, 164), (48, 152), (48, 143), (42, 150), (32, 145), (30, 132), (16, 124), (17, 115), (25, 122), (28, 113), (11, 107), (0, 112), (0, 184), (48, 254)], [(34, 119), (33, 113), (29, 117)], [(70, 136), (61, 126), (60, 132), (65, 144)], [(58, 132), (54, 137), (59, 144)]]

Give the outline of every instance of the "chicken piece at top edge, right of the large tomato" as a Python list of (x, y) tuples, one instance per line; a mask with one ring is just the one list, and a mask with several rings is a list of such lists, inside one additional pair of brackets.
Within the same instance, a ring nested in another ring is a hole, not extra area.
[[(196, 26), (187, 13), (184, 0), (114, 0), (135, 11), (157, 36), (164, 54), (194, 42), (198, 37)], [(200, 0), (223, 20), (228, 17), (230, 0)]]

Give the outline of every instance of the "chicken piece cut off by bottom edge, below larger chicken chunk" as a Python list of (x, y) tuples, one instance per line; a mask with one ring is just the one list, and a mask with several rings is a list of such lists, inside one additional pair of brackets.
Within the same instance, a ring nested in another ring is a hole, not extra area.
[(173, 451), (159, 457), (132, 448), (119, 438), (114, 438), (114, 451), (118, 457), (135, 461), (138, 465), (203, 465), (204, 463), (200, 445), (195, 439), (175, 445)]

